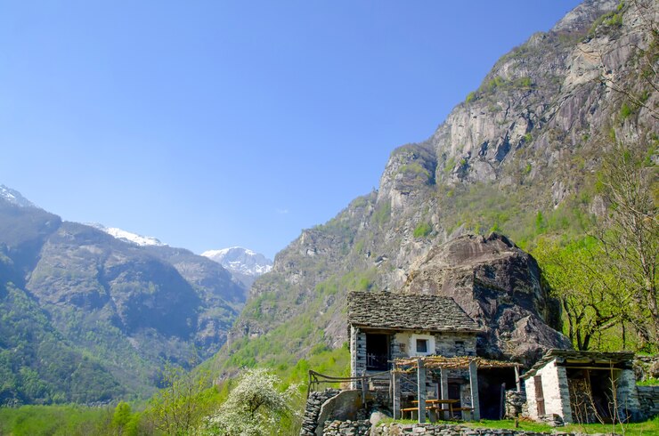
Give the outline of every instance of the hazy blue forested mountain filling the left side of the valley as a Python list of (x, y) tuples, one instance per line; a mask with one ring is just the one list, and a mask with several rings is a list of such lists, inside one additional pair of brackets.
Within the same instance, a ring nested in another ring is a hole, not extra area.
[(225, 342), (247, 290), (220, 264), (3, 192), (0, 403), (145, 397), (167, 361), (190, 367)]

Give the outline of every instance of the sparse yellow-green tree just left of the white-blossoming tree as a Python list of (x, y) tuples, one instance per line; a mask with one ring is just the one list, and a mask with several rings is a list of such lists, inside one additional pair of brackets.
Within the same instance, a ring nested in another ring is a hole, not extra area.
[(211, 387), (210, 375), (167, 364), (163, 376), (166, 387), (153, 397), (148, 413), (158, 430), (169, 435), (189, 434), (207, 415), (205, 394)]

